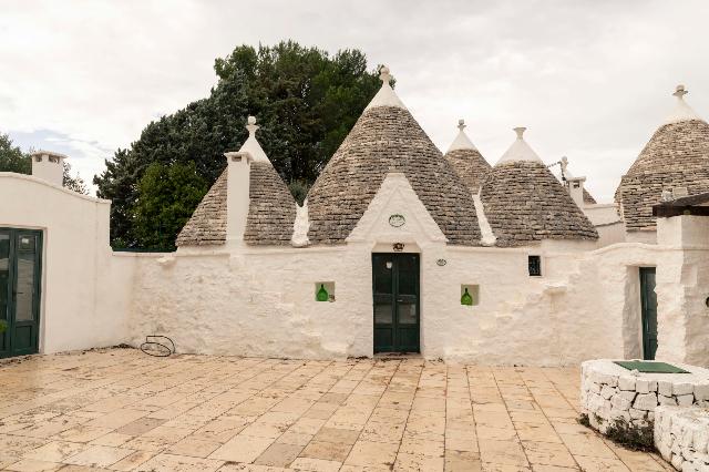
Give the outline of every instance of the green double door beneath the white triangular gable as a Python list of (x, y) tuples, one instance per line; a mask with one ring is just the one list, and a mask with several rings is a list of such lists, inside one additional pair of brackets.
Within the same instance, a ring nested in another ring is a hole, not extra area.
[(372, 254), (374, 352), (419, 352), (419, 255)]

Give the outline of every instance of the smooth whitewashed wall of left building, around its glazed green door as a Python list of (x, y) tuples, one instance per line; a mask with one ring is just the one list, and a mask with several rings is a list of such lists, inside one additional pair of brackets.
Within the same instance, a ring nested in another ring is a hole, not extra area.
[(42, 229), (40, 350), (126, 338), (131, 268), (111, 257), (110, 202), (38, 177), (0, 173), (0, 226)]

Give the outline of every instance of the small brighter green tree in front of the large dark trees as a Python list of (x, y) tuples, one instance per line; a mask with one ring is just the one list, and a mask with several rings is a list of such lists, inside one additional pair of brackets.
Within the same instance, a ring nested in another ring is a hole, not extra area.
[(207, 188), (207, 181), (197, 174), (194, 162), (151, 164), (138, 184), (137, 204), (132, 212), (143, 247), (174, 250), (174, 235), (189, 219)]

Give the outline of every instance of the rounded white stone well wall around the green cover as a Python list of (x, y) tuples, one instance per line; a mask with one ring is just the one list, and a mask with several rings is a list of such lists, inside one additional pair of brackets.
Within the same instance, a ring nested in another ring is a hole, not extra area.
[(609, 359), (582, 363), (580, 404), (590, 425), (600, 432), (616, 419), (651, 425), (658, 406), (709, 408), (709, 370), (675, 366), (690, 373), (640, 373)]

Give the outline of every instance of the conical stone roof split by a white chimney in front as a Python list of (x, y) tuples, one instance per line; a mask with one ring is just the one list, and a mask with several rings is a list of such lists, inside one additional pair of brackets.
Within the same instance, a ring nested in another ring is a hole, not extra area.
[[(256, 121), (249, 116), (249, 208), (244, 232), (248, 245), (289, 245), (296, 219), (296, 201), (256, 141)], [(228, 167), (204, 196), (177, 236), (177, 246), (220, 245), (226, 242)]]

